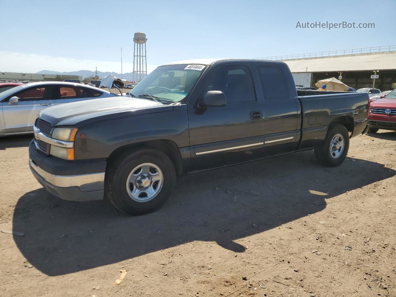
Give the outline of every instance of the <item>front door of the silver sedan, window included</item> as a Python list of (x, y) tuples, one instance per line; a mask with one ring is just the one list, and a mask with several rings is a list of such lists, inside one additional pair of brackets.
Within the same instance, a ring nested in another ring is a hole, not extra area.
[[(48, 85), (23, 89), (6, 99), (3, 104), (4, 124), (7, 133), (33, 131), (38, 113), (53, 106), (52, 87)], [(18, 102), (10, 102), (11, 97)]]

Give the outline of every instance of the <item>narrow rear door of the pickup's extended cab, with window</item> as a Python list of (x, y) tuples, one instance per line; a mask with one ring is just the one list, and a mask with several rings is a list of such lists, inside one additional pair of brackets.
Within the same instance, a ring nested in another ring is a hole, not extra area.
[(264, 155), (297, 149), (300, 138), (300, 103), (290, 70), (281, 63), (262, 63), (257, 72), (263, 90)]

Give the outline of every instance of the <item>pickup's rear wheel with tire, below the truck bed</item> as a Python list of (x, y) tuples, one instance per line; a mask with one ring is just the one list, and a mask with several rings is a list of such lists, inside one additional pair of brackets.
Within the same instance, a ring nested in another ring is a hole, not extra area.
[(315, 149), (315, 157), (323, 166), (335, 167), (345, 160), (348, 149), (348, 130), (341, 124), (333, 124), (329, 127), (322, 145)]

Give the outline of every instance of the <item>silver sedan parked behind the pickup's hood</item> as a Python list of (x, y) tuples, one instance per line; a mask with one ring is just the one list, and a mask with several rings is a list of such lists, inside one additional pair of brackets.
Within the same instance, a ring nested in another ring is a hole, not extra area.
[(50, 106), (118, 96), (72, 82), (33, 82), (0, 93), (0, 136), (33, 132), (37, 114)]

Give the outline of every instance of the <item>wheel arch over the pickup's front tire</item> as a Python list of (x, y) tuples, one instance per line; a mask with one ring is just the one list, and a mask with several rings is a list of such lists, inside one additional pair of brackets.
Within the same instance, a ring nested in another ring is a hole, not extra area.
[(158, 139), (158, 140), (149, 140), (149, 141), (142, 141), (137, 143), (131, 143), (128, 145), (123, 145), (122, 147), (118, 147), (113, 150), (110, 156), (106, 159), (107, 164), (110, 164), (117, 156), (128, 152), (129, 150), (135, 148), (153, 148), (156, 150), (160, 150), (168, 155), (171, 159), (173, 166), (175, 168), (175, 173), (177, 176), (183, 175), (183, 161), (179, 151), (179, 147), (177, 147), (174, 141), (169, 139)]

